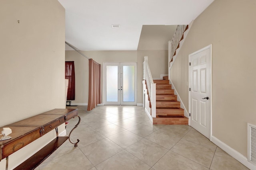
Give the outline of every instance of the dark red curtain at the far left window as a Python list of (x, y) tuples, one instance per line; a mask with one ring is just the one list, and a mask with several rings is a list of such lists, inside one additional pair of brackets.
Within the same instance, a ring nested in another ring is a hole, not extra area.
[(75, 100), (75, 66), (74, 61), (65, 62), (65, 79), (68, 79), (67, 100)]

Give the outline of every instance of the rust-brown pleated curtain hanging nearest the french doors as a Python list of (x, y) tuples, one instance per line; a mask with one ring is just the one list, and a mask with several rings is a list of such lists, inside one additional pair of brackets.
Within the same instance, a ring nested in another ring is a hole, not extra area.
[(101, 103), (101, 64), (93, 59), (89, 60), (89, 92), (88, 106), (90, 111)]

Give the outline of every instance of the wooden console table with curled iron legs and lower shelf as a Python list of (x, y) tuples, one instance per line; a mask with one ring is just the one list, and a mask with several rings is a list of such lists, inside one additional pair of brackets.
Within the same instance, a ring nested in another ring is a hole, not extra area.
[[(4, 126), (12, 129), (12, 133), (9, 135), (12, 139), (0, 141), (0, 161), (6, 158), (6, 170), (8, 170), (8, 156), (10, 154), (13, 154), (17, 150), (55, 129), (56, 138), (54, 140), (25, 160), (22, 164), (14, 168), (14, 170), (34, 170), (34, 168), (58, 149), (58, 147), (60, 147), (60, 145), (62, 145), (67, 139), (70, 141), (72, 131), (68, 137), (59, 137), (58, 126), (74, 117), (78, 117), (79, 120), (72, 129), (73, 131), (79, 125), (81, 120), (78, 116), (78, 109), (53, 109)], [(3, 127), (0, 127), (0, 129), (2, 128)], [(70, 141), (70, 143), (74, 144), (74, 147), (77, 147), (78, 142), (79, 139), (77, 139), (76, 143), (72, 143)]]

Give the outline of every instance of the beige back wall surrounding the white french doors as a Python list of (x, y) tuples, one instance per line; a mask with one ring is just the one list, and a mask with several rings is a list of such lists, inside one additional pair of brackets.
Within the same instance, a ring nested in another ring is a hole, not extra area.
[[(94, 59), (99, 64), (104, 62), (136, 62), (137, 63), (137, 103), (142, 104), (142, 63), (144, 56), (148, 56), (152, 76), (160, 78), (160, 74), (168, 74), (167, 50), (139, 50), (139, 51), (81, 51), (84, 55)], [(74, 104), (88, 104), (88, 59), (76, 51), (66, 51), (66, 61), (74, 61), (76, 74), (76, 100)], [(160, 66), (160, 68), (158, 67)], [(103, 76), (102, 76), (103, 102)]]

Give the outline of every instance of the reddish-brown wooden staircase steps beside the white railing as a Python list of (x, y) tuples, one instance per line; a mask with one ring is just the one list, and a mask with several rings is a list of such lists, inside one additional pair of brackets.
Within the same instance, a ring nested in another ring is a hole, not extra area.
[[(168, 76), (163, 79), (168, 79)], [(153, 124), (188, 125), (188, 118), (184, 116), (184, 109), (180, 108), (180, 102), (177, 101), (177, 95), (174, 95), (169, 80), (154, 80), (154, 83), (156, 83), (156, 117), (153, 117)], [(148, 100), (150, 101), (149, 96)], [(149, 105), (151, 108), (150, 102)]]

